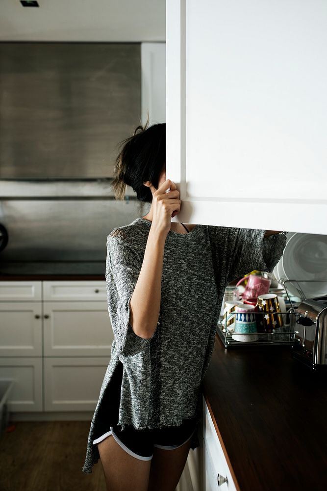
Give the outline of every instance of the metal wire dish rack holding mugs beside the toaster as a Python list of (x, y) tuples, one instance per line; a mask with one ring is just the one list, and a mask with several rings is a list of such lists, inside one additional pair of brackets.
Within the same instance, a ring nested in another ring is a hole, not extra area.
[[(281, 288), (271, 288), (269, 293), (275, 293), (278, 297), (282, 297), (285, 302), (285, 310), (273, 313), (272, 315), (281, 315), (283, 319), (283, 326), (271, 329), (271, 332), (255, 332), (255, 333), (242, 333), (243, 341), (239, 341), (233, 338), (235, 335), (233, 326), (235, 327), (235, 312), (226, 313), (221, 315), (217, 323), (217, 333), (223, 342), (225, 348), (246, 348), (249, 346), (281, 346), (289, 345), (295, 346), (300, 343), (297, 338), (298, 334), (296, 330), (296, 318), (297, 307), (305, 300), (305, 288), (300, 283), (314, 283), (320, 284), (320, 287), (316, 288), (316, 291), (320, 290), (319, 295), (327, 294), (325, 292), (325, 285), (327, 285), (327, 279), (324, 280), (292, 280), (288, 278), (281, 278), (279, 284)], [(317, 285), (313, 285), (317, 286)], [(290, 291), (293, 291), (293, 293)], [(327, 288), (326, 288), (327, 289)], [(324, 293), (325, 292), (325, 293)], [(298, 295), (295, 295), (297, 293)], [(315, 295), (313, 295), (315, 296)], [(226, 298), (231, 299), (231, 287), (226, 288)], [(236, 300), (236, 298), (235, 298)], [(255, 316), (267, 315), (266, 312), (252, 312)], [(257, 318), (256, 318), (257, 319)], [(235, 336), (236, 337), (236, 336)], [(246, 340), (248, 337), (249, 340)]]

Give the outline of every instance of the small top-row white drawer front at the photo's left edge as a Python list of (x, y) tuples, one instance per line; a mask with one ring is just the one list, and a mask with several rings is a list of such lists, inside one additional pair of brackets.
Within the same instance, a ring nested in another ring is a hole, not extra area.
[(0, 281), (0, 301), (40, 301), (41, 281)]

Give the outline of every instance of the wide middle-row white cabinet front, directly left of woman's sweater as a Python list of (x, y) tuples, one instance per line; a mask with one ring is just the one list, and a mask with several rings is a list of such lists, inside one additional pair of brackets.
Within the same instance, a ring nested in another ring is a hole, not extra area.
[(45, 356), (110, 356), (107, 302), (44, 302)]

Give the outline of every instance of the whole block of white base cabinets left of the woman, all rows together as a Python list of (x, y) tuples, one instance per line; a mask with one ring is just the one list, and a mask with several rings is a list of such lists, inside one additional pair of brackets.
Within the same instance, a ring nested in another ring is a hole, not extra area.
[(12, 412), (94, 410), (113, 339), (105, 281), (0, 282)]

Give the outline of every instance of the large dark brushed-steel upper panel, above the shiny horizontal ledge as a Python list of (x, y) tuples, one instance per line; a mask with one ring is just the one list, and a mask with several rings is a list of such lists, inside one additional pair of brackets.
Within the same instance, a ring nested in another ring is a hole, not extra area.
[(141, 116), (140, 43), (0, 43), (0, 178), (112, 177)]

